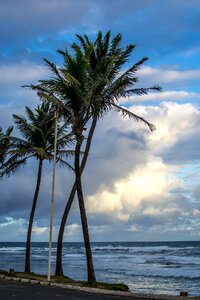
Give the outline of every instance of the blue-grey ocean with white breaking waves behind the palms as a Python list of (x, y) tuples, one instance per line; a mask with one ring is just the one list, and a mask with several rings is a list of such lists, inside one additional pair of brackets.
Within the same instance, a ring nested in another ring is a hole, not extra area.
[[(200, 241), (92, 243), (98, 281), (123, 282), (135, 293), (200, 295)], [(25, 243), (0, 242), (0, 269), (24, 269)], [(52, 250), (55, 269), (56, 243)], [(32, 271), (47, 273), (48, 243), (32, 243)], [(86, 280), (83, 243), (64, 243), (65, 275)]]

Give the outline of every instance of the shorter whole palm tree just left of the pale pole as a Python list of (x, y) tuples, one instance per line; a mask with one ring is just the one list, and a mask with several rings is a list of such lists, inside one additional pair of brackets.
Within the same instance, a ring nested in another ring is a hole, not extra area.
[[(14, 123), (20, 131), (22, 138), (12, 137), (13, 145), (12, 150), (10, 151), (11, 158), (5, 165), (5, 173), (9, 174), (10, 170), (18, 165), (18, 161), (26, 163), (31, 157), (35, 157), (38, 161), (36, 187), (26, 239), (25, 272), (30, 272), (30, 247), (33, 220), (39, 195), (43, 161), (51, 161), (53, 157), (54, 119), (52, 118), (52, 112), (48, 103), (42, 103), (35, 111), (26, 107), (26, 115), (27, 119), (23, 116), (13, 115)], [(58, 129), (57, 148), (59, 156), (57, 157), (57, 161), (67, 166), (69, 166), (69, 164), (63, 157), (68, 155), (68, 151), (65, 150), (65, 147), (71, 142), (72, 136), (66, 133), (65, 124), (60, 126)]]

